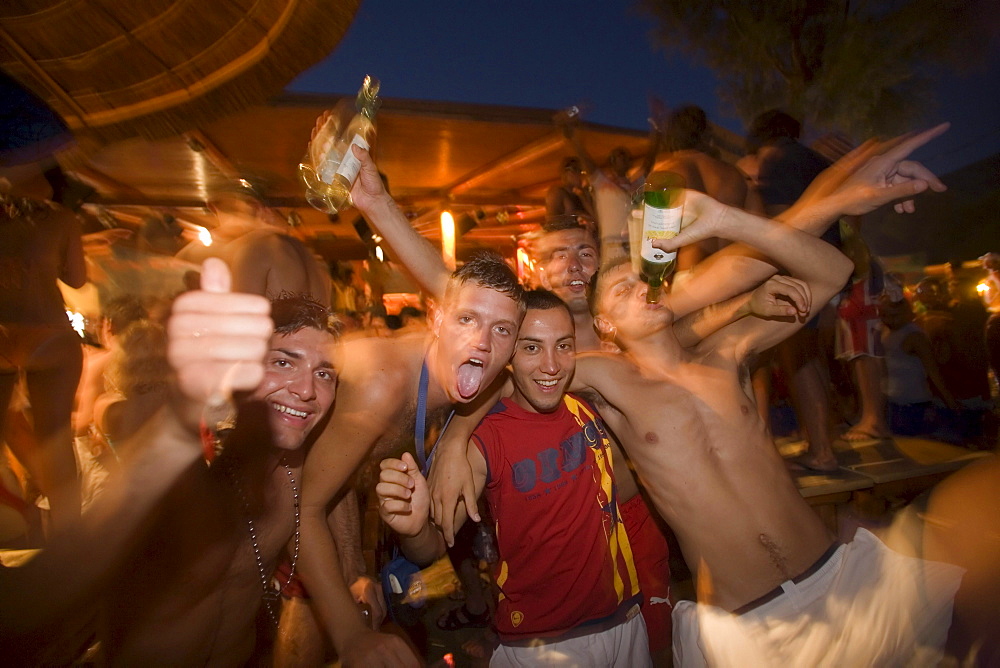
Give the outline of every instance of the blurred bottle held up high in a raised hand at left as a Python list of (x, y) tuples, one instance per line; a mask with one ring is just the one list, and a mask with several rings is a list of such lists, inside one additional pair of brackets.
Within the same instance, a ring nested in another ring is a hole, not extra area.
[(369, 150), (375, 141), (375, 114), (382, 104), (379, 85), (378, 79), (366, 76), (354, 109), (339, 103), (309, 142), (299, 174), (306, 185), (306, 201), (320, 211), (337, 213), (351, 204), (351, 186), (361, 169), (351, 146)]

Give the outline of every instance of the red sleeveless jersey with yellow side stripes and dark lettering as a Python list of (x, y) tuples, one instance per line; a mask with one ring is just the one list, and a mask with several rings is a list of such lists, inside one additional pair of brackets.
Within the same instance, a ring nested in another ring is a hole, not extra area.
[(640, 602), (606, 434), (569, 394), (552, 413), (504, 399), (473, 434), (497, 529), (502, 641), (596, 629)]

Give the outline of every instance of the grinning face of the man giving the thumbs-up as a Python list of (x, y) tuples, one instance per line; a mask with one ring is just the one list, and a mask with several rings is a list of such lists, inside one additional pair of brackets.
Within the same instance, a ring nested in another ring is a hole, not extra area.
[(275, 447), (301, 447), (333, 405), (337, 392), (332, 361), (335, 342), (333, 334), (312, 327), (271, 337), (264, 380), (251, 398), (267, 405)]

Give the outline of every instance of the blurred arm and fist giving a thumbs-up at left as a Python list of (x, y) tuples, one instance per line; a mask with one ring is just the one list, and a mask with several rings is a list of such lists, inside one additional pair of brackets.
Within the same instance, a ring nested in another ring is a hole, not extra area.
[(46, 638), (37, 635), (42, 627), (113, 582), (161, 499), (200, 464), (206, 404), (220, 394), (253, 390), (263, 378), (274, 327), (267, 300), (230, 293), (221, 260), (208, 260), (201, 280), (202, 290), (174, 303), (168, 325), (168, 357), (176, 374), (171, 400), (129, 439), (119, 475), (35, 559), (0, 568), (0, 653), (8, 660), (44, 644)]

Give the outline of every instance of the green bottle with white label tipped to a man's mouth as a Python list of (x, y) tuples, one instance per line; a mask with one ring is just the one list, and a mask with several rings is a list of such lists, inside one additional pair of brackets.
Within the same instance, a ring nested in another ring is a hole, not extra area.
[(684, 213), (684, 179), (674, 172), (653, 172), (646, 179), (642, 192), (642, 248), (639, 276), (649, 284), (646, 301), (660, 299), (663, 281), (677, 265), (677, 252), (653, 247), (655, 239), (670, 239), (681, 229)]

